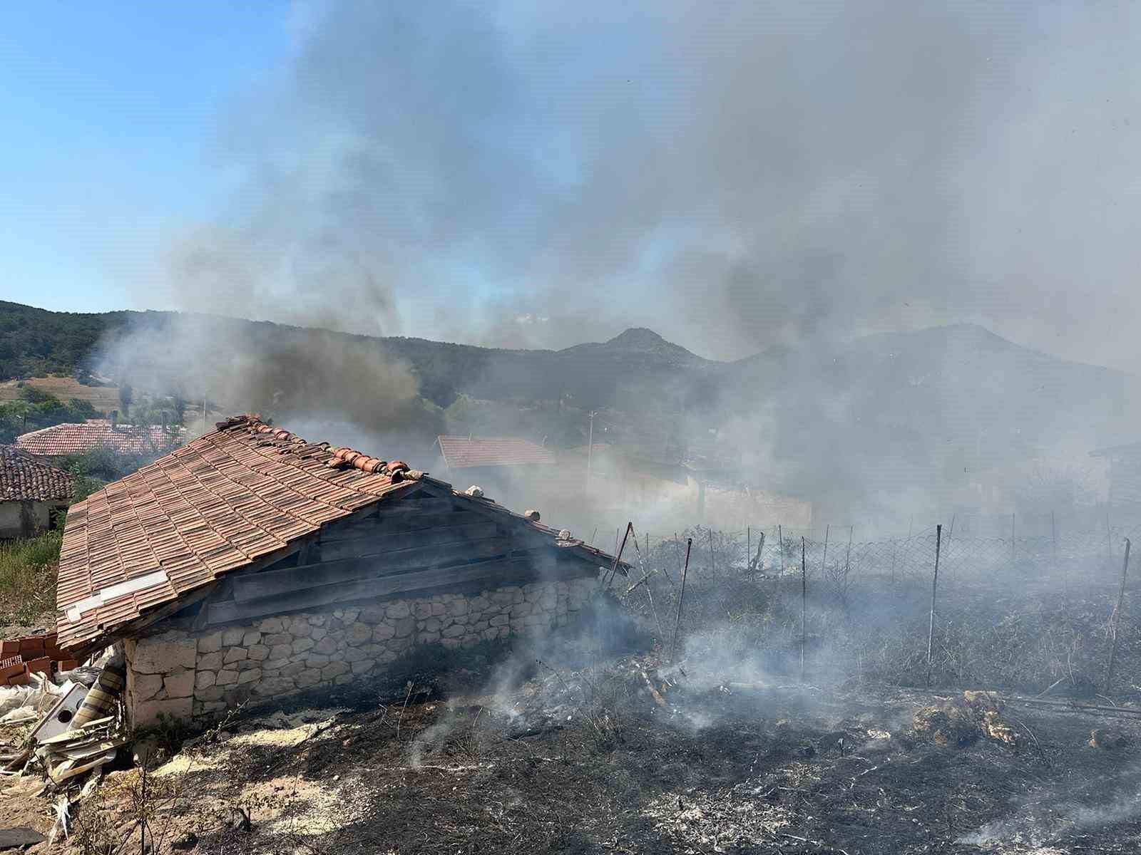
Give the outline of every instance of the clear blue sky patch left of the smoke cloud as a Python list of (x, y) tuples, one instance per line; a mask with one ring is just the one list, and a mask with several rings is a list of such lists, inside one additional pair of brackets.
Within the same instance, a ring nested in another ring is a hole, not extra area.
[(272, 2), (7, 5), (3, 296), (144, 308), (116, 270), (171, 222), (209, 214), (219, 115), (284, 60), (289, 19)]

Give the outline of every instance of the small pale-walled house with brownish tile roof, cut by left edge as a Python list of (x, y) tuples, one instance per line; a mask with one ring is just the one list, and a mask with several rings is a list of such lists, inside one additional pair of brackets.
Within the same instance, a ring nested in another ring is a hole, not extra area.
[(72, 495), (71, 474), (15, 446), (0, 446), (0, 538), (32, 537), (51, 528)]

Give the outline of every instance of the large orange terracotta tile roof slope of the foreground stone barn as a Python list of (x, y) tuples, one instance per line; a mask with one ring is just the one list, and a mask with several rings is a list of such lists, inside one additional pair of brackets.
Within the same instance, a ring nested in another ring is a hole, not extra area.
[(238, 416), (72, 505), (59, 557), (59, 644), (270, 555), (415, 483), (406, 464), (306, 442)]

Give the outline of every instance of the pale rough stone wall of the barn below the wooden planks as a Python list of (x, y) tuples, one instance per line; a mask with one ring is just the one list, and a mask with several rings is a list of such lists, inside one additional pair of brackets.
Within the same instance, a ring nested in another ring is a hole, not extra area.
[(594, 579), (534, 583), (283, 614), (209, 633), (171, 629), (126, 642), (127, 708), (136, 725), (147, 725), (159, 714), (209, 718), (246, 701), (367, 682), (418, 644), (545, 635), (574, 619), (596, 586)]

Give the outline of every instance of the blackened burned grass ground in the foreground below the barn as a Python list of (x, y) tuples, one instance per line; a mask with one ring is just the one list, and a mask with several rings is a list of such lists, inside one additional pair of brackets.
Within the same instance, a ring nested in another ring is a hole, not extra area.
[[(955, 695), (735, 685), (656, 665), (551, 666), (495, 695), (238, 723), (167, 773), (181, 793), (170, 839), (193, 830), (201, 853), (400, 855), (1141, 846), (1128, 800), (1141, 722), (1112, 719), (1127, 739), (1092, 748), (1110, 719), (1008, 703), (1015, 744), (938, 744), (913, 718)], [(227, 825), (230, 806), (249, 831)]]

